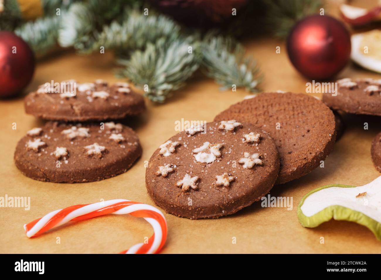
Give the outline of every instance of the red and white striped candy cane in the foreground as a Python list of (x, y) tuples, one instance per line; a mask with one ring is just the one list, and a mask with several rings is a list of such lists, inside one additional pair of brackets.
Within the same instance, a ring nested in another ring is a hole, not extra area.
[(149, 238), (148, 243), (138, 243), (120, 254), (155, 254), (164, 246), (167, 226), (163, 213), (153, 206), (125, 199), (113, 199), (59, 209), (29, 224), (24, 224), (24, 229), (27, 237), (34, 237), (69, 221), (81, 221), (106, 214), (130, 214), (144, 218), (154, 228), (154, 234)]

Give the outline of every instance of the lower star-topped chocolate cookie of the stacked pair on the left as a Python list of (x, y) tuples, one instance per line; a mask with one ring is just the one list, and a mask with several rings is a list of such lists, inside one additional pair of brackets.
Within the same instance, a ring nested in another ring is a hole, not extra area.
[(91, 182), (126, 172), (141, 154), (136, 133), (120, 123), (47, 122), (18, 142), (14, 162), (35, 180)]

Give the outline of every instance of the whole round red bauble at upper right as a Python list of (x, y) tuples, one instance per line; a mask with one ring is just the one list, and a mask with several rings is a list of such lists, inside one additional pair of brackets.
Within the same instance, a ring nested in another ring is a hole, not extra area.
[(296, 23), (288, 35), (287, 52), (301, 74), (325, 80), (349, 61), (351, 36), (341, 22), (330, 16), (308, 16)]

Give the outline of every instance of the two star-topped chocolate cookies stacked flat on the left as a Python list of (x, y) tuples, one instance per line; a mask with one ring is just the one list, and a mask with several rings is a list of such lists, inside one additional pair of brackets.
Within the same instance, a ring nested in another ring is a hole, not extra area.
[(26, 96), (25, 109), (49, 120), (29, 130), (14, 153), (16, 166), (32, 179), (99, 181), (126, 172), (142, 154), (131, 128), (107, 122), (145, 110), (144, 99), (127, 83), (47, 83)]

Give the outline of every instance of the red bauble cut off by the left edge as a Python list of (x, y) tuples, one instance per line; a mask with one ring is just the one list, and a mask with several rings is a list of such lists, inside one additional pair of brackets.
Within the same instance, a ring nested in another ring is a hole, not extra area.
[(34, 72), (34, 54), (27, 43), (11, 32), (0, 32), (0, 97), (25, 88)]

